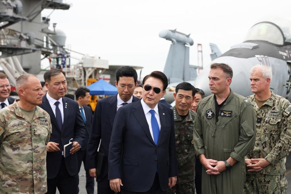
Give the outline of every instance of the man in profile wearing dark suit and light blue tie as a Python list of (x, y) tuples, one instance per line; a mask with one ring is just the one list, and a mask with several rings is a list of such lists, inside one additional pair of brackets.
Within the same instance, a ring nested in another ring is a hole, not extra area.
[[(86, 166), (86, 149), (88, 144), (88, 139), (91, 131), (91, 123), (92, 123), (92, 109), (87, 106), (89, 104), (89, 92), (90, 90), (85, 87), (80, 87), (75, 92), (76, 101), (79, 104), (79, 109), (81, 113), (81, 117), (86, 125), (86, 133), (85, 133), (85, 139), (83, 141), (82, 149), (80, 149), (77, 154), (77, 160), (78, 160), (78, 173), (81, 169), (82, 161), (84, 163), (84, 168)], [(89, 169), (86, 169), (86, 191), (87, 194), (94, 193), (94, 178), (89, 175)], [(79, 182), (78, 182), (79, 183)], [(79, 190), (79, 188), (78, 188)]]

